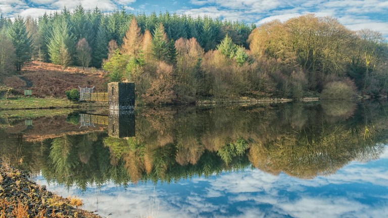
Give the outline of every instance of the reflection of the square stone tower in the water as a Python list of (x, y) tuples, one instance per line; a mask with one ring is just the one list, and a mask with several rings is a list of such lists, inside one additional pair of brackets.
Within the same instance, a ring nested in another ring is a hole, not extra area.
[(115, 138), (135, 136), (135, 114), (133, 111), (110, 111), (108, 135)]

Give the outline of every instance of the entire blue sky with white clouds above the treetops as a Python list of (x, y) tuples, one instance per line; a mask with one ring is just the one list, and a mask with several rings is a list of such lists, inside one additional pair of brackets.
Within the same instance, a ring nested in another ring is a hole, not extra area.
[(64, 6), (72, 10), (81, 4), (86, 9), (98, 6), (104, 12), (125, 8), (131, 12), (153, 11), (192, 16), (219, 17), (239, 20), (258, 25), (273, 19), (287, 20), (307, 13), (317, 16), (336, 17), (352, 30), (369, 28), (388, 37), (388, 1), (386, 0), (0, 0), (0, 13), (38, 17), (44, 12), (61, 10)]

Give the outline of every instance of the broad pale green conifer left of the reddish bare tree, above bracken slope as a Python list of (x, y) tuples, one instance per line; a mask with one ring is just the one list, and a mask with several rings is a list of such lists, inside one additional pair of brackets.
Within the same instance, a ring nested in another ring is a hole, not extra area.
[(62, 49), (62, 51), (66, 50), (66, 52), (69, 53), (71, 59), (74, 53), (74, 37), (69, 31), (68, 22), (64, 19), (57, 20), (53, 31), (53, 37), (51, 38), (50, 44), (48, 46), (50, 60), (54, 64), (61, 64), (64, 62), (62, 59), (63, 54), (60, 52), (60, 49)]

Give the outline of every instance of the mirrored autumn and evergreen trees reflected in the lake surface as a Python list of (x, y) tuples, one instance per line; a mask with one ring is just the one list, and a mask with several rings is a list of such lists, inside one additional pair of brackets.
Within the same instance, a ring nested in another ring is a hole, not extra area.
[(90, 133), (52, 140), (42, 173), (81, 188), (109, 180), (169, 183), (250, 166), (308, 179), (352, 160), (378, 158), (388, 136), (386, 106), (330, 108), (336, 107), (143, 108), (136, 115), (136, 137)]

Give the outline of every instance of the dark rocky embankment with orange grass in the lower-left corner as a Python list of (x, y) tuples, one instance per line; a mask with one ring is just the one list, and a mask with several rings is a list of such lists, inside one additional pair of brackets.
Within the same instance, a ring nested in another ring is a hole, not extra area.
[(0, 162), (0, 218), (3, 217), (100, 217), (79, 209), (82, 202), (63, 198), (29, 180), (27, 174)]

